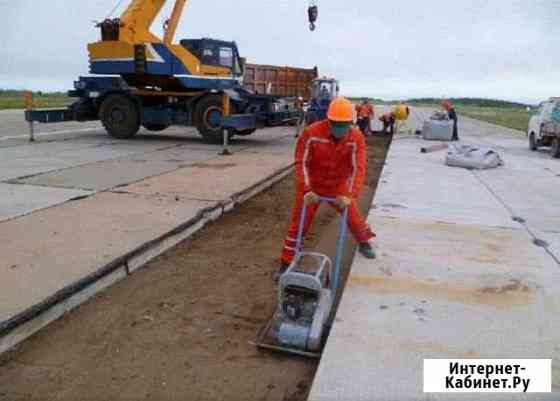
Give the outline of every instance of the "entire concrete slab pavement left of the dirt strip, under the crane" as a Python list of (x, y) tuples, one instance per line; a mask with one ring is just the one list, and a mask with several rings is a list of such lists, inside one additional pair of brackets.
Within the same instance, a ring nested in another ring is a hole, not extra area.
[[(17, 116), (0, 114), (0, 334), (100, 269), (141, 266), (143, 247), (221, 215), (293, 163), (291, 127), (235, 139), (233, 156), (220, 156), (181, 127), (115, 140), (95, 127), (39, 125), (50, 133), (29, 143)], [(0, 338), (0, 352), (22, 336)]]

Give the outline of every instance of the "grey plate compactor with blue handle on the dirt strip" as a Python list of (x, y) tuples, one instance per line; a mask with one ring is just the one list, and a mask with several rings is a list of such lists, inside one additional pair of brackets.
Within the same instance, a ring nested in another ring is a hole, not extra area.
[[(320, 198), (320, 202), (334, 201)], [(272, 319), (261, 330), (256, 345), (318, 358), (334, 319), (348, 209), (342, 213), (334, 269), (328, 256), (302, 251), (305, 214), (304, 204), (296, 240), (296, 255), (278, 280), (278, 306)]]

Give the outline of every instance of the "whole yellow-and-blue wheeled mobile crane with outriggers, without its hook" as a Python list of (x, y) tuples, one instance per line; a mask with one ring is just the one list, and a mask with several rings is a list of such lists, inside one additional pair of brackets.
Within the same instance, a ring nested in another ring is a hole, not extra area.
[(65, 109), (28, 110), (25, 119), (100, 120), (119, 139), (131, 138), (141, 126), (194, 126), (207, 141), (220, 142), (224, 131), (249, 135), (299, 118), (281, 98), (242, 86), (246, 66), (234, 41), (173, 43), (186, 0), (175, 0), (163, 39), (150, 32), (166, 2), (132, 0), (120, 17), (98, 23), (101, 39), (88, 45), (91, 75), (79, 77), (69, 91), (76, 101)]

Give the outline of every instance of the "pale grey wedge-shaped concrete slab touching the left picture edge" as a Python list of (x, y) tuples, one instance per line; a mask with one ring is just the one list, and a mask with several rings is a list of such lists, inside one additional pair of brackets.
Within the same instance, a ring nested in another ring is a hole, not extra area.
[(90, 195), (91, 191), (0, 183), (0, 222)]

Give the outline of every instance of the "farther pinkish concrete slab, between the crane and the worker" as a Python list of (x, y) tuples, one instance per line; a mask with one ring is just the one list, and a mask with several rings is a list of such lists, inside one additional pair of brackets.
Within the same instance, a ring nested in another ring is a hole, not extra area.
[(144, 196), (220, 201), (289, 166), (292, 159), (291, 153), (238, 152), (233, 156), (195, 163), (165, 176), (119, 188), (119, 191)]

